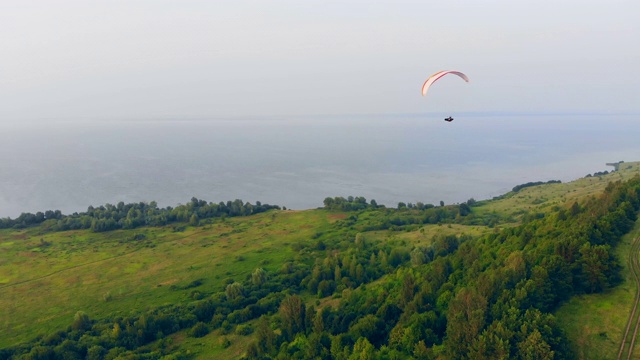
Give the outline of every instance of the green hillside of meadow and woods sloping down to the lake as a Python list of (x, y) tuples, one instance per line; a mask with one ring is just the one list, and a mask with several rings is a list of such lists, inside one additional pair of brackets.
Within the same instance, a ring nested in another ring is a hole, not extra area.
[[(560, 306), (628, 289), (639, 173), (447, 206), (2, 229), (0, 358), (586, 357)], [(633, 293), (617, 298), (622, 329)]]

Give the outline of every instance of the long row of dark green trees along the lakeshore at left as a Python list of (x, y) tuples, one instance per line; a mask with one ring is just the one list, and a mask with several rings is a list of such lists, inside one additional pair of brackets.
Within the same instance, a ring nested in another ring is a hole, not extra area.
[(261, 204), (259, 201), (253, 205), (237, 199), (226, 203), (207, 203), (195, 197), (185, 205), (164, 209), (158, 208), (155, 201), (131, 204), (119, 202), (117, 205), (106, 204), (97, 208), (90, 206), (86, 212), (73, 215), (63, 215), (60, 210), (47, 210), (44, 213), (38, 211), (35, 214), (22, 213), (15, 219), (0, 219), (0, 229), (20, 229), (42, 224), (44, 228), (51, 231), (91, 229), (94, 232), (102, 232), (134, 229), (140, 226), (162, 226), (176, 222), (189, 222), (195, 225), (201, 219), (247, 216), (279, 208), (276, 205)]

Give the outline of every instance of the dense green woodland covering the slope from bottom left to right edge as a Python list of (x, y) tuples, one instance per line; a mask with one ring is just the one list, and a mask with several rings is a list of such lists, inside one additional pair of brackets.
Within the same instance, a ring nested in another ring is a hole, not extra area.
[[(192, 202), (175, 221), (210, 207)], [(436, 235), (428, 245), (380, 241), (370, 231), (484, 218), (468, 204), (388, 209), (327, 198), (325, 207), (345, 216), (296, 244), (295, 259), (278, 271), (255, 268), (214, 293), (200, 293), (196, 282), (188, 304), (126, 317), (78, 312), (67, 329), (0, 350), (0, 358), (188, 358), (167, 340), (178, 331), (252, 336), (250, 359), (572, 358), (551, 312), (620, 281), (612, 248), (636, 220), (640, 178), (518, 226), (477, 238)]]

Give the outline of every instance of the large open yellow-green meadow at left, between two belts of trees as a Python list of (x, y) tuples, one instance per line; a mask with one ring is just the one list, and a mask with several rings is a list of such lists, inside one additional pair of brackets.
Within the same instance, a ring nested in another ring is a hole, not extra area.
[[(281, 211), (183, 232), (0, 231), (0, 347), (66, 328), (79, 310), (94, 319), (125, 315), (190, 301), (193, 289), (181, 289), (197, 279), (206, 294), (257, 267), (276, 271), (293, 257), (288, 244), (308, 241), (331, 221), (323, 211)], [(132, 242), (134, 232), (146, 239)], [(41, 239), (49, 245), (39, 246)]]

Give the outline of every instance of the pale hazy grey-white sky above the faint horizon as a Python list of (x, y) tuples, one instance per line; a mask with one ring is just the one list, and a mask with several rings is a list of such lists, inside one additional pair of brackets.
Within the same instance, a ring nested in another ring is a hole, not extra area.
[(639, 44), (637, 0), (2, 0), (0, 121), (640, 112)]

